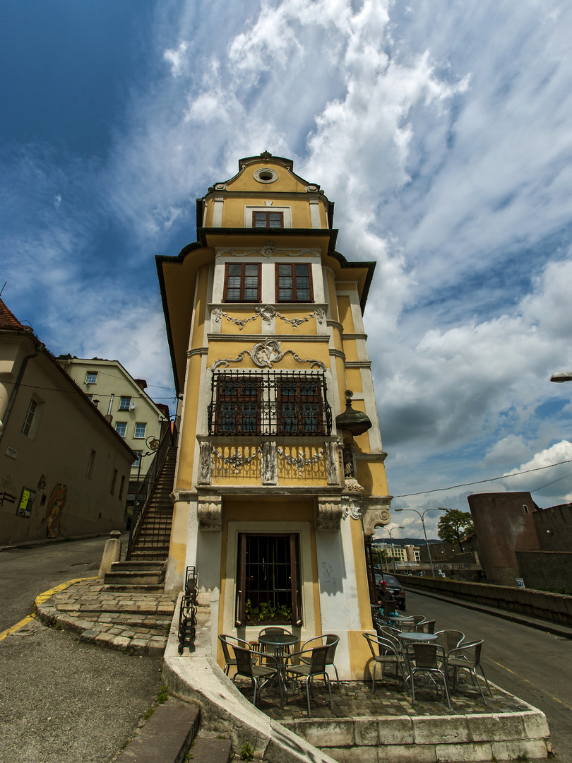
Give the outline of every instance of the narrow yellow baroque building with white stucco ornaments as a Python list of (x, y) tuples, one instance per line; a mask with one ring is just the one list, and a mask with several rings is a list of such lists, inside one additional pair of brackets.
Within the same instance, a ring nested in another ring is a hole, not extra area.
[(371, 535), (390, 520), (362, 323), (374, 262), (336, 252), (333, 202), (268, 152), (198, 199), (197, 228), (157, 258), (182, 398), (165, 587), (196, 566), (219, 662), (218, 634), (280, 625), (336, 633), (340, 678), (361, 679)]

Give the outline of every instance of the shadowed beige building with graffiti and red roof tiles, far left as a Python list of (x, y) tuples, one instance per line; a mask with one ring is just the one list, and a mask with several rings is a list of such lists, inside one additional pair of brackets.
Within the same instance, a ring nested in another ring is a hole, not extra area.
[(133, 451), (0, 299), (0, 545), (122, 530)]

